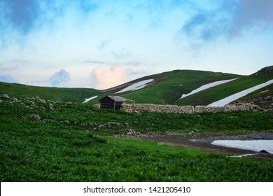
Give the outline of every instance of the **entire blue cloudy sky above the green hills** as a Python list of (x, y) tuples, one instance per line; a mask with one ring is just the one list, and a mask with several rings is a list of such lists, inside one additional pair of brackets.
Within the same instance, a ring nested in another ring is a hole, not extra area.
[(0, 81), (103, 90), (273, 64), (271, 0), (0, 0)]

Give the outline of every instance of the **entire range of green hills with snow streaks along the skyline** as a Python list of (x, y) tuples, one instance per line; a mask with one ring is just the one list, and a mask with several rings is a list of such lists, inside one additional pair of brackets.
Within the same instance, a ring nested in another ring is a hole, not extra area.
[[(98, 104), (106, 95), (118, 95), (137, 104), (209, 105), (251, 87), (273, 79), (273, 66), (267, 66), (250, 76), (212, 71), (174, 70), (158, 73), (106, 90), (87, 88), (34, 87), (0, 83), (0, 94), (19, 97), (41, 97), (59, 102)], [(271, 81), (270, 81), (271, 82)], [(272, 80), (273, 83), (273, 80)], [(249, 91), (250, 92), (250, 91)], [(261, 92), (263, 94), (261, 94)], [(266, 92), (266, 93), (265, 93)], [(273, 84), (254, 90), (239, 98), (240, 102), (254, 102), (260, 95), (272, 96)], [(252, 98), (247, 98), (252, 97)], [(89, 99), (86, 99), (89, 98)]]

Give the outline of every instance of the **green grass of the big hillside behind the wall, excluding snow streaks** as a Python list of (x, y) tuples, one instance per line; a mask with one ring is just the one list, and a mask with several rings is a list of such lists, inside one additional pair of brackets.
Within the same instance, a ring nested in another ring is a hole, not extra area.
[[(267, 66), (250, 76), (240, 76), (231, 73), (211, 72), (211, 71), (194, 71), (194, 70), (174, 70), (159, 73), (138, 80), (131, 81), (124, 85), (113, 87), (109, 90), (102, 91), (97, 99), (93, 99), (88, 104), (98, 104), (98, 100), (108, 94), (115, 94), (127, 99), (134, 100), (137, 104), (176, 104), (176, 105), (208, 105), (220, 99), (228, 97), (249, 87), (265, 83), (273, 79), (273, 66)], [(219, 80), (228, 80), (238, 78), (229, 83), (210, 87), (183, 99), (182, 94), (188, 94), (202, 85)], [(141, 80), (154, 79), (140, 90), (127, 91), (116, 94), (119, 90), (124, 89)]]

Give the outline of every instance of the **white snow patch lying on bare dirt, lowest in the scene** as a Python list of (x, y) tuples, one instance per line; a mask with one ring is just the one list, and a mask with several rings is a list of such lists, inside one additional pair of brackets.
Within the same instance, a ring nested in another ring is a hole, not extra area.
[(273, 140), (215, 140), (211, 144), (273, 154)]

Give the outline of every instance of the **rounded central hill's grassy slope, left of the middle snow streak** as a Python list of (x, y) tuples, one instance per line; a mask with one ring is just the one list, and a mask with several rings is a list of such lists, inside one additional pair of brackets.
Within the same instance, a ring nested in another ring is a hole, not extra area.
[[(151, 86), (144, 87), (141, 90), (134, 92), (123, 92), (117, 94), (121, 97), (134, 100), (137, 104), (174, 104), (176, 100), (184, 93), (188, 93), (197, 87), (206, 83), (211, 83), (218, 80), (228, 80), (230, 78), (239, 78), (241, 76), (231, 73), (216, 73), (211, 71), (193, 71), (193, 70), (175, 70), (164, 73), (146, 76), (139, 80), (155, 79), (155, 83)], [(137, 81), (135, 81), (137, 82)], [(132, 84), (127, 83), (127, 85)], [(123, 87), (116, 87), (114, 90), (107, 90), (106, 94), (113, 94)], [(89, 104), (98, 104), (98, 100), (102, 97), (94, 99)]]

